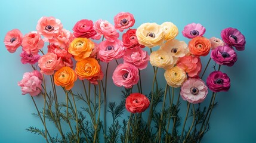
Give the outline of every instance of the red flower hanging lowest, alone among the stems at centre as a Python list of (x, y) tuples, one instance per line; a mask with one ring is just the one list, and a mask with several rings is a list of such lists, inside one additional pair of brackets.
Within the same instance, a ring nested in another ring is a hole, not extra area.
[(141, 113), (149, 108), (149, 99), (140, 93), (132, 93), (125, 100), (125, 108), (131, 113)]

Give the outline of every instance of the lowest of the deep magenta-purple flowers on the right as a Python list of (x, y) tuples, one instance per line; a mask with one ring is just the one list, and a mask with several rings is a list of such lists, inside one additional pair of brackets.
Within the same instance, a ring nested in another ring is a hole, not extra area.
[(206, 79), (208, 88), (213, 92), (229, 91), (230, 79), (226, 73), (213, 71)]

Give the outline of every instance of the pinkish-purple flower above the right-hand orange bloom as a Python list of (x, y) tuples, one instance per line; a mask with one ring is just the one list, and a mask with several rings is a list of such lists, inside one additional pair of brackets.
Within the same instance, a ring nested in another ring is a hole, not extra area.
[(204, 33), (205, 27), (203, 27), (200, 23), (187, 24), (182, 31), (183, 36), (190, 39), (202, 37)]

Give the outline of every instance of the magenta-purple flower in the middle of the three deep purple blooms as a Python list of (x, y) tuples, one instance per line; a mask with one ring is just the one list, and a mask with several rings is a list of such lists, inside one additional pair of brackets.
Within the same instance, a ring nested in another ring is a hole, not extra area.
[(211, 51), (211, 58), (220, 65), (233, 66), (238, 56), (233, 48), (230, 46), (218, 46)]

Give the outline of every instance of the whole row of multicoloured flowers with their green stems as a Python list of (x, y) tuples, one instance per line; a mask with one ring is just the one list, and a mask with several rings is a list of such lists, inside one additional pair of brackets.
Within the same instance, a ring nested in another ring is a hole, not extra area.
[[(7, 33), (7, 50), (13, 53), (22, 47), (21, 63), (32, 67), (18, 86), (23, 95), (30, 95), (37, 111), (34, 115), (44, 125), (44, 129), (30, 126), (27, 131), (38, 133), (46, 142), (200, 142), (209, 130), (217, 93), (230, 89), (230, 78), (221, 66), (235, 64), (235, 49), (245, 49), (245, 36), (229, 27), (221, 31), (221, 39), (208, 39), (203, 37), (206, 29), (202, 24), (191, 23), (182, 31), (191, 39), (186, 43), (175, 39), (178, 28), (169, 21), (131, 29), (134, 15), (121, 12), (113, 23), (83, 19), (70, 32), (57, 18), (41, 17), (36, 31), (24, 36), (18, 29)], [(201, 57), (208, 54), (202, 70)], [(214, 70), (203, 81), (211, 60)], [(147, 79), (153, 81), (151, 91), (145, 92), (141, 70), (149, 63), (154, 75)], [(111, 74), (110, 64), (115, 66)], [(165, 78), (164, 88), (157, 76)], [(82, 93), (73, 91), (79, 84)], [(118, 95), (121, 102), (107, 102), (108, 84), (124, 87)], [(180, 92), (174, 93), (175, 88)], [(42, 110), (36, 104), (38, 96), (44, 98)], [(207, 96), (211, 96), (209, 105), (202, 107)], [(181, 104), (187, 104), (184, 119)], [(110, 125), (107, 113), (112, 116)], [(191, 125), (186, 125), (189, 117)], [(57, 136), (48, 129), (52, 124)]]

